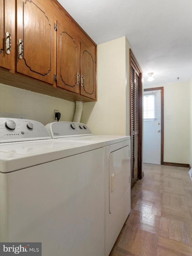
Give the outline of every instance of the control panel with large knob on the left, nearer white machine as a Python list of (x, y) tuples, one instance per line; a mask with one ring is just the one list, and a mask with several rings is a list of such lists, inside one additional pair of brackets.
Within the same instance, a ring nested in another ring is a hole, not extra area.
[(40, 122), (0, 117), (0, 143), (50, 138), (49, 132)]

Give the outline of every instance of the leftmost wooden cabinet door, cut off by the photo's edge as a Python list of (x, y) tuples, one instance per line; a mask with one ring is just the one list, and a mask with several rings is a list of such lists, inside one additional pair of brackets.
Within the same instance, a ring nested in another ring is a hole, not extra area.
[[(14, 1), (0, 0), (0, 66), (14, 69)], [(12, 41), (11, 41), (12, 38)]]

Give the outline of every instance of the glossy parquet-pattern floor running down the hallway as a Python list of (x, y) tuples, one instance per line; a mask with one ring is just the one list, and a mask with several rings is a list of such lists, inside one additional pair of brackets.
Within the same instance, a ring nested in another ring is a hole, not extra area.
[(110, 256), (192, 256), (189, 168), (144, 164), (143, 171)]

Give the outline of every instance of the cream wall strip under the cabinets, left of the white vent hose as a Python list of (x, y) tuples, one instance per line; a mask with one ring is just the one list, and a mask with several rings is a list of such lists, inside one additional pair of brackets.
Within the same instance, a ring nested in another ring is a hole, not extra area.
[(0, 84), (1, 112), (26, 114), (27, 119), (46, 125), (55, 122), (54, 110), (59, 110), (61, 113), (60, 121), (71, 122), (75, 103)]

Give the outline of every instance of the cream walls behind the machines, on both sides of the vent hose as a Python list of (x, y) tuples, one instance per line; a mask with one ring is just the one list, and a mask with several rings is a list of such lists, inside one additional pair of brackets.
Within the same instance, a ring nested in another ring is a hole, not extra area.
[[(126, 37), (98, 45), (98, 101), (83, 104), (81, 122), (93, 134), (129, 135), (129, 48)], [(22, 113), (27, 119), (46, 125), (54, 122), (54, 110), (60, 121), (72, 121), (75, 103), (0, 84), (0, 111)]]

